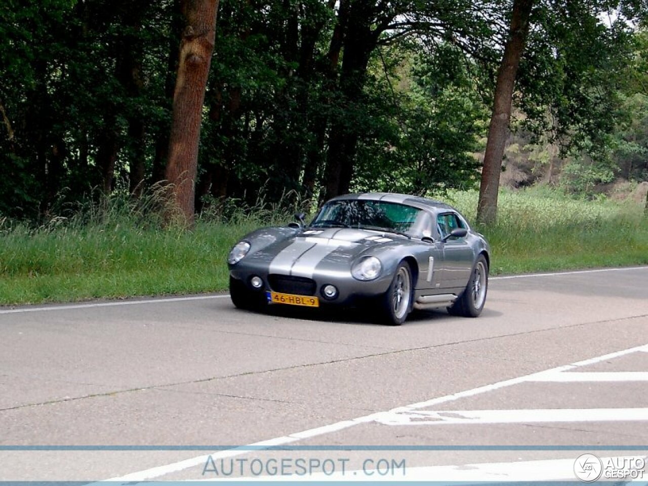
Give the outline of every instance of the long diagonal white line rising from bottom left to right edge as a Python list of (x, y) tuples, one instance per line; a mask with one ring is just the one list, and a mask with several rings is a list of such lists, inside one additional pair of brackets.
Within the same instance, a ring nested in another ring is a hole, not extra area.
[[(625, 356), (626, 354), (637, 353), (638, 351), (644, 351), (648, 349), (648, 344), (632, 347), (629, 349), (623, 349), (621, 351), (616, 351), (614, 353), (603, 354), (603, 356), (597, 356), (596, 358), (591, 358), (589, 360), (584, 360), (570, 365), (559, 366), (555, 368), (548, 369), (546, 371), (540, 371), (539, 373), (531, 373), (530, 375), (518, 376), (517, 378), (511, 378), (510, 380), (503, 380), (501, 382), (496, 382), (493, 384), (480, 386), (478, 388), (473, 388), (454, 395), (445, 395), (445, 397), (439, 397), (431, 400), (426, 400), (424, 402), (417, 402), (408, 406), (394, 408), (389, 411), (382, 411), (378, 413), (371, 413), (370, 415), (364, 415), (364, 417), (358, 417), (353, 420), (345, 420), (340, 422), (335, 422), (327, 426), (316, 427), (309, 430), (304, 430), (302, 432), (296, 432), (295, 434), (285, 435), (283, 437), (277, 437), (276, 439), (270, 439), (269, 441), (262, 441), (247, 446), (240, 446), (238, 448), (222, 450), (211, 454), (213, 459), (221, 457), (233, 457), (241, 454), (247, 454), (251, 448), (254, 450), (259, 450), (262, 446), (272, 446), (272, 445), (283, 445), (299, 441), (300, 439), (306, 439), (311, 437), (316, 437), (318, 435), (329, 434), (330, 432), (337, 432), (339, 430), (344, 430), (346, 428), (352, 427), (358, 424), (365, 424), (367, 422), (380, 422), (382, 420), (388, 419), (395, 414), (411, 413), (422, 408), (428, 408), (430, 406), (452, 402), (464, 397), (474, 397), (475, 395), (480, 395), (481, 393), (487, 393), (488, 391), (493, 391), (496, 389), (505, 388), (508, 386), (513, 386), (516, 384), (524, 383), (533, 380), (538, 375), (556, 373), (561, 371), (573, 370), (575, 367), (584, 366), (588, 364), (595, 364), (605, 360), (610, 360), (612, 358), (618, 358), (619, 356)], [(642, 409), (646, 410), (646, 409)], [(510, 412), (510, 411), (507, 411)], [(646, 412), (648, 413), (648, 411)], [(165, 474), (170, 474), (172, 472), (178, 472), (181, 470), (189, 469), (190, 467), (195, 467), (207, 461), (209, 454), (203, 454), (198, 457), (193, 457), (191, 459), (185, 459), (184, 461), (179, 461), (176, 463), (171, 463), (165, 466), (154, 467), (152, 469), (145, 469), (139, 472), (133, 472), (132, 474), (127, 474), (126, 476), (121, 476), (117, 478), (111, 478), (110, 480), (113, 483), (128, 483), (132, 481), (146, 481), (154, 478), (159, 478), (165, 476)], [(102, 481), (102, 482), (105, 482)], [(117, 485), (115, 485), (117, 486)]]

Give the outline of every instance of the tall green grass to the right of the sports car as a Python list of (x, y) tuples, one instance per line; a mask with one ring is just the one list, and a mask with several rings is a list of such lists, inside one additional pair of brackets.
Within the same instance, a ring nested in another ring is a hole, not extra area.
[[(448, 199), (474, 221), (476, 191)], [(576, 200), (546, 187), (502, 191), (497, 223), (476, 227), (492, 247), (491, 273), (648, 264), (648, 219), (634, 202)]]

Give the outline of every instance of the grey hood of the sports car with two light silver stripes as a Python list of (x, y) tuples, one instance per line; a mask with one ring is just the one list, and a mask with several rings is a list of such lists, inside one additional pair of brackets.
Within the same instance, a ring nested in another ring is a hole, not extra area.
[[(303, 229), (276, 238), (246, 257), (250, 264), (268, 266), (268, 273), (312, 277), (318, 269), (349, 273), (351, 261), (376, 246), (402, 244), (408, 238), (353, 228)], [(264, 235), (267, 238), (267, 233)], [(267, 239), (266, 239), (267, 241)]]

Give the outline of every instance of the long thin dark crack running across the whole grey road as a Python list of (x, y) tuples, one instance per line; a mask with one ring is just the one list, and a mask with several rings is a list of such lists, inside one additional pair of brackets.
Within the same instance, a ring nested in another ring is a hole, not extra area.
[(478, 343), (478, 342), (482, 342), (482, 341), (491, 341), (491, 340), (502, 339), (502, 338), (511, 338), (511, 337), (514, 337), (514, 336), (525, 336), (525, 335), (528, 335), (528, 334), (537, 334), (538, 332), (547, 332), (547, 331), (562, 330), (562, 329), (573, 329), (573, 328), (576, 328), (576, 327), (583, 327), (583, 326), (588, 326), (588, 325), (613, 323), (613, 322), (619, 322), (619, 321), (629, 321), (629, 320), (632, 320), (632, 319), (647, 318), (647, 317), (648, 317), (648, 314), (640, 314), (640, 315), (637, 315), (637, 316), (628, 316), (628, 317), (619, 318), (619, 319), (604, 319), (602, 321), (578, 323), (578, 324), (572, 324), (572, 325), (562, 326), (562, 327), (549, 327), (549, 328), (546, 328), (546, 329), (535, 329), (535, 330), (530, 330), (530, 331), (525, 331), (525, 332), (511, 332), (509, 334), (500, 334), (499, 336), (489, 336), (489, 337), (486, 337), (486, 338), (476, 338), (476, 339), (472, 339), (472, 340), (469, 339), (469, 340), (463, 340), (463, 341), (452, 341), (450, 343), (433, 344), (433, 345), (413, 347), (413, 348), (408, 348), (408, 349), (397, 349), (395, 351), (386, 351), (385, 353), (365, 354), (364, 356), (353, 356), (351, 358), (341, 358), (341, 359), (337, 359), (337, 360), (329, 360), (329, 361), (318, 362), (318, 363), (307, 363), (307, 364), (291, 365), (291, 366), (285, 366), (285, 367), (280, 367), (280, 368), (264, 369), (264, 370), (259, 370), (259, 371), (245, 371), (243, 373), (235, 373), (233, 375), (211, 376), (209, 378), (200, 378), (198, 380), (189, 380), (189, 381), (176, 382), (176, 383), (170, 383), (170, 384), (157, 384), (157, 385), (135, 387), (135, 388), (127, 388), (127, 389), (115, 390), (115, 391), (106, 391), (106, 392), (103, 392), (103, 393), (91, 393), (89, 395), (82, 395), (80, 397), (65, 397), (64, 399), (46, 400), (45, 402), (36, 402), (36, 403), (21, 404), (21, 405), (16, 405), (16, 406), (11, 406), (11, 407), (0, 408), (0, 412), (11, 411), (11, 410), (19, 410), (21, 408), (30, 408), (30, 407), (43, 406), (43, 405), (59, 404), (59, 403), (65, 403), (65, 402), (74, 402), (74, 401), (77, 401), (77, 400), (86, 400), (86, 399), (93, 399), (93, 398), (98, 398), (98, 397), (111, 397), (111, 396), (115, 396), (115, 395), (122, 395), (122, 394), (125, 394), (125, 393), (133, 393), (135, 391), (148, 391), (148, 390), (156, 390), (156, 389), (159, 389), (159, 388), (170, 388), (170, 387), (174, 387), (174, 386), (191, 385), (191, 384), (198, 384), (198, 383), (207, 383), (207, 382), (212, 382), (212, 381), (216, 381), (216, 380), (226, 380), (228, 378), (240, 378), (242, 376), (263, 375), (265, 373), (275, 373), (277, 371), (289, 371), (289, 370), (292, 370), (292, 369), (305, 369), (305, 368), (308, 368), (308, 367), (315, 367), (315, 366), (322, 366), (322, 365), (348, 363), (348, 362), (354, 362), (354, 361), (359, 361), (359, 360), (365, 360), (367, 358), (378, 358), (378, 357), (381, 357), (381, 356), (392, 356), (392, 355), (401, 354), (401, 353), (413, 353), (415, 351), (425, 351), (426, 349), (437, 349), (437, 348), (442, 348), (442, 347), (447, 347), (447, 346), (456, 346), (456, 345), (460, 345), (460, 344)]

